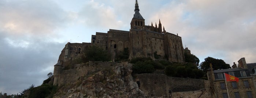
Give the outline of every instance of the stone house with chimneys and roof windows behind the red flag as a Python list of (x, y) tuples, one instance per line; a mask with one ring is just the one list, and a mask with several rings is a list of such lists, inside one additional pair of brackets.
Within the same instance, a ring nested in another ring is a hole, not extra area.
[[(211, 67), (208, 69), (207, 76), (213, 98), (256, 98), (255, 78), (253, 78), (254, 74), (251, 73), (252, 69), (248, 69), (244, 63), (244, 58), (239, 61), (238, 67), (215, 70)], [(236, 64), (234, 63), (233, 66)], [(226, 81), (225, 73), (239, 78), (238, 82)]]

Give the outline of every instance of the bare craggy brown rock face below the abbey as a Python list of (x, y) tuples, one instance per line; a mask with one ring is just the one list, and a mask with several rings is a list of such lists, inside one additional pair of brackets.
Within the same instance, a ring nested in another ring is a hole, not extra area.
[(145, 98), (131, 76), (131, 65), (119, 65), (84, 75), (74, 83), (60, 86), (53, 98)]

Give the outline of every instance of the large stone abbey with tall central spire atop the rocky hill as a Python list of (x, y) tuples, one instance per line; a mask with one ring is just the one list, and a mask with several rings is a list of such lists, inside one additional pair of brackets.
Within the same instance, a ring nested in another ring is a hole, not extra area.
[(150, 57), (155, 59), (157, 54), (160, 59), (170, 62), (184, 63), (184, 49), (182, 39), (178, 34), (168, 33), (159, 19), (159, 24), (145, 25), (145, 19), (140, 14), (136, 0), (134, 15), (130, 23), (130, 31), (110, 29), (107, 33), (96, 32), (92, 35), (91, 43), (67, 43), (60, 54), (59, 61), (66, 62), (75, 59), (83, 49), (89, 45), (96, 45), (108, 51), (114, 61), (124, 49), (129, 49), (129, 59), (133, 57)]

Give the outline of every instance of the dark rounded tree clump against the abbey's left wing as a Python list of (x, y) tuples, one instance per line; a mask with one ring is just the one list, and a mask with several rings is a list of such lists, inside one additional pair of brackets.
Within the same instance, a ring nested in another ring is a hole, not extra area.
[(109, 61), (108, 52), (97, 46), (89, 46), (85, 49), (82, 60), (87, 61)]

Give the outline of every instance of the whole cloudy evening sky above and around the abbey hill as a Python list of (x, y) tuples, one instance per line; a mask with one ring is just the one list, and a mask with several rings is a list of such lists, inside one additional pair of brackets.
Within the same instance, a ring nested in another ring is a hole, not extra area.
[[(0, 0), (0, 92), (40, 86), (67, 42), (130, 29), (135, 0)], [(138, 0), (145, 24), (161, 20), (200, 59), (256, 63), (256, 0)]]

